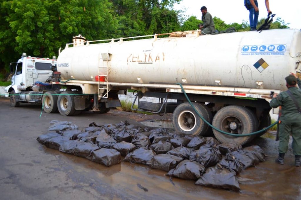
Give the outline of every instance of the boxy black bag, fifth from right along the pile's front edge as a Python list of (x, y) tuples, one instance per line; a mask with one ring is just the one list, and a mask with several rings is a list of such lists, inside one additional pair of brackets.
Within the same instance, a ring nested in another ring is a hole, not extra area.
[(88, 156), (88, 159), (92, 160), (93, 162), (106, 165), (107, 167), (121, 162), (121, 156), (117, 150), (106, 148), (93, 151), (92, 154)]

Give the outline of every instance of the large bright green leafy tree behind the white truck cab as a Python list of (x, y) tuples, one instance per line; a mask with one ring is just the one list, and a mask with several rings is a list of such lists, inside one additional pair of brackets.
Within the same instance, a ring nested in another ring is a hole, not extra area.
[(0, 3), (3, 21), (0, 64), (7, 69), (8, 63), (22, 52), (37, 57), (54, 56), (60, 47), (72, 41), (72, 36), (104, 39), (111, 37), (117, 28), (108, 0), (2, 0)]

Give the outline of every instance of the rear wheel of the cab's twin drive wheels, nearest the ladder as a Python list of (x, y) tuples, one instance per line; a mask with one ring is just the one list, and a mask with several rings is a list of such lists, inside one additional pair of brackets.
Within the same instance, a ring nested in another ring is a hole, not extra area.
[(61, 115), (71, 116), (75, 113), (73, 94), (71, 91), (64, 91), (57, 98), (57, 109)]

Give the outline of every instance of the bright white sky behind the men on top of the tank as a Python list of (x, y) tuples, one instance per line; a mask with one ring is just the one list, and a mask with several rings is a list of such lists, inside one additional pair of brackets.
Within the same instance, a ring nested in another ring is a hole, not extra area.
[[(293, 29), (301, 29), (301, 1), (300, 0), (270, 0), (270, 10), (276, 14), (273, 18), (281, 17), (288, 26)], [(225, 21), (226, 24), (239, 23), (243, 20), (249, 23), (249, 11), (244, 6), (244, 0), (182, 0), (180, 4), (175, 4), (175, 10), (186, 10), (184, 14), (189, 18), (196, 16), (201, 19), (202, 13), (200, 8), (206, 6), (207, 11), (212, 17), (218, 17)], [(265, 8), (265, 0), (258, 0), (259, 17), (266, 18), (267, 10)]]

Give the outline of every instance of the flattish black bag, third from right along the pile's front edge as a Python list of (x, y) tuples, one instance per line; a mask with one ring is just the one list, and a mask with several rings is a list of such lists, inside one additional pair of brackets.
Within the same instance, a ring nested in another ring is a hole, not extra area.
[(159, 154), (154, 156), (150, 161), (146, 164), (151, 168), (160, 169), (163, 171), (169, 171), (175, 168), (179, 162), (183, 159), (177, 156), (168, 155), (168, 154)]

